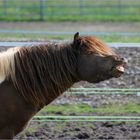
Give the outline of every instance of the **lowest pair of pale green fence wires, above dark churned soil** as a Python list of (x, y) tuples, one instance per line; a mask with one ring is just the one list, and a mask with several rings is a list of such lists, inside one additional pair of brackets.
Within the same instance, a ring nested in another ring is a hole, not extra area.
[(34, 122), (140, 122), (139, 116), (35, 116)]

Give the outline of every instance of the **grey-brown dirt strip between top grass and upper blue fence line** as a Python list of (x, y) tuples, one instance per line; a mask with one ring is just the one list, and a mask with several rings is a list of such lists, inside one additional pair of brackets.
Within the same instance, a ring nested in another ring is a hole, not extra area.
[(0, 22), (1, 29), (71, 31), (71, 32), (140, 32), (139, 22)]

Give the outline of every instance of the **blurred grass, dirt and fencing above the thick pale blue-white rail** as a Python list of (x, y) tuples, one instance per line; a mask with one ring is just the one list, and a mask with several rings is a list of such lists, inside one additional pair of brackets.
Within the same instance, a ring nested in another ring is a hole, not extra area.
[(1, 39), (64, 39), (79, 31), (139, 42), (139, 21), (139, 0), (0, 0)]

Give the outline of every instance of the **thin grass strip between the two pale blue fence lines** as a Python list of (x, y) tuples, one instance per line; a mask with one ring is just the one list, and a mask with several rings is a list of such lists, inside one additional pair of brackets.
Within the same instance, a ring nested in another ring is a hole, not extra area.
[[(104, 40), (105, 42), (140, 42), (139, 36), (119, 36), (119, 35), (100, 35), (97, 36), (100, 39)], [(27, 40), (64, 40), (64, 39), (72, 39), (73, 35), (41, 35), (41, 34), (8, 34), (8, 33), (0, 33), (0, 39), (15, 39), (20, 40), (21, 38), (26, 38)]]

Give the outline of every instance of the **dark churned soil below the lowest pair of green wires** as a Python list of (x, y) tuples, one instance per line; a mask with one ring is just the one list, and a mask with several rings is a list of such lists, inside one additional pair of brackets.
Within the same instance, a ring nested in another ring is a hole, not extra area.
[(17, 138), (50, 140), (140, 139), (140, 123), (49, 122), (34, 125), (38, 127), (32, 134), (28, 131)]

